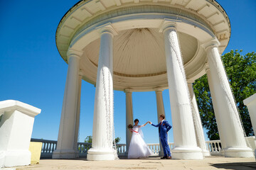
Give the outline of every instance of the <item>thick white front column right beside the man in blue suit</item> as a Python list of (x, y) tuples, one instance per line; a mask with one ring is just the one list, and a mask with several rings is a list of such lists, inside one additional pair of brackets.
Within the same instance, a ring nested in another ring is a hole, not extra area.
[(185, 70), (178, 44), (175, 23), (166, 22), (162, 26), (166, 52), (166, 68), (171, 102), (171, 118), (174, 130), (174, 159), (203, 159), (202, 150), (197, 147), (193, 125), (191, 102)]

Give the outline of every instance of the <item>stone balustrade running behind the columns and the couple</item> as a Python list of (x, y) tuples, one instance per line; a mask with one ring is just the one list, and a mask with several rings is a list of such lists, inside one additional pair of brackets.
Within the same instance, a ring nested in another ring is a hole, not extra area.
[[(246, 137), (246, 141), (249, 147), (252, 149), (256, 149), (255, 146), (255, 137)], [(56, 149), (57, 141), (55, 140), (40, 140), (40, 139), (33, 139), (31, 138), (31, 142), (42, 142), (42, 151), (41, 151), (41, 158), (51, 158), (53, 151)], [(153, 152), (151, 156), (158, 156), (160, 151), (159, 143), (154, 144), (147, 144), (149, 149)], [(79, 157), (86, 157), (87, 151), (92, 147), (91, 143), (86, 142), (78, 142), (78, 152)], [(169, 143), (169, 147), (171, 149), (174, 148), (174, 143)], [(222, 146), (220, 140), (210, 140), (206, 141), (206, 147), (210, 151), (211, 156), (221, 156)], [(126, 152), (126, 145), (125, 144), (117, 144), (117, 154), (119, 156), (124, 156)]]

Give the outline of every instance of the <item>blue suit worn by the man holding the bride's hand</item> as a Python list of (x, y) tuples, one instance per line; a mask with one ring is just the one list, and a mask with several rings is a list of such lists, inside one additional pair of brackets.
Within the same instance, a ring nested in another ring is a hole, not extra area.
[(154, 125), (153, 123), (151, 125), (159, 128), (159, 137), (161, 140), (161, 145), (164, 149), (164, 157), (170, 157), (171, 152), (167, 142), (167, 139), (168, 139), (167, 132), (171, 129), (171, 125), (166, 120), (164, 120), (163, 123), (160, 122), (158, 125)]

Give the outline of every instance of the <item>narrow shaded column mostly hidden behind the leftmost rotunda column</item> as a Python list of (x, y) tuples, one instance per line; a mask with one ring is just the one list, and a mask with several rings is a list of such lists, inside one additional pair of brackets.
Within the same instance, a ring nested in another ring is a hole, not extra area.
[(80, 98), (81, 98), (81, 85), (82, 85), (82, 76), (79, 75), (78, 77), (78, 107), (76, 112), (76, 119), (75, 119), (75, 149), (76, 149), (76, 156), (79, 157), (78, 153), (78, 135), (79, 135), (79, 125), (80, 125)]

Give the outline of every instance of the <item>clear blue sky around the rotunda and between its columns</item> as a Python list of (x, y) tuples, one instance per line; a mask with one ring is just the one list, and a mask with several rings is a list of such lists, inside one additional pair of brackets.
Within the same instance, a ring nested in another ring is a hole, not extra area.
[[(33, 138), (57, 140), (68, 71), (55, 46), (55, 30), (60, 19), (78, 1), (0, 1), (0, 101), (13, 99), (41, 108), (35, 118)], [(228, 13), (231, 38), (225, 52), (256, 47), (256, 1), (218, 0)], [(225, 52), (223, 54), (225, 54)], [(92, 135), (95, 87), (82, 81), (80, 142)], [(163, 92), (166, 120), (171, 123), (169, 91)], [(157, 121), (154, 92), (133, 93), (134, 118), (142, 123)], [(116, 137), (125, 143), (125, 94), (114, 91)], [(156, 143), (158, 130), (146, 126), (144, 140)], [(173, 142), (172, 130), (169, 142)]]

